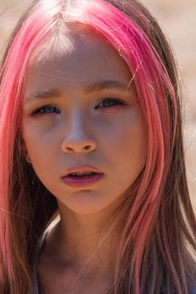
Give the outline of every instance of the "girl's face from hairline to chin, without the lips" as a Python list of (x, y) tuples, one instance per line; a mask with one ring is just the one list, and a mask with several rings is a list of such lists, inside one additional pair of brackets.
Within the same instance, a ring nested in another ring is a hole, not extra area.
[[(32, 166), (59, 209), (109, 209), (137, 178), (147, 153), (147, 129), (132, 84), (126, 90), (132, 78), (126, 63), (101, 39), (76, 33), (36, 53), (22, 126)], [(62, 181), (68, 168), (83, 165), (104, 175), (89, 187)]]

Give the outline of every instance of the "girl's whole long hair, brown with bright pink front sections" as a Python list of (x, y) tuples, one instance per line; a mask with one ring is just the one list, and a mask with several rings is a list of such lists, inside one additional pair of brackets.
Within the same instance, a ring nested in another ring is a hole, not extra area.
[(187, 294), (195, 278), (196, 219), (185, 170), (180, 72), (158, 22), (138, 0), (35, 1), (9, 38), (0, 69), (0, 293), (31, 293), (35, 245), (58, 214), (56, 198), (22, 147), (29, 60), (42, 40), (86, 27), (125, 60), (148, 131), (145, 166), (117, 208), (120, 241), (110, 293)]

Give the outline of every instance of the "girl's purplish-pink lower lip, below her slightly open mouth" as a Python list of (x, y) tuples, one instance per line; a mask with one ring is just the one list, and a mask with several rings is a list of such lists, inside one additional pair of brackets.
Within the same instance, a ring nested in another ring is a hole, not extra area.
[(71, 188), (87, 188), (95, 185), (102, 179), (104, 173), (96, 173), (83, 177), (64, 176), (61, 178), (64, 184)]

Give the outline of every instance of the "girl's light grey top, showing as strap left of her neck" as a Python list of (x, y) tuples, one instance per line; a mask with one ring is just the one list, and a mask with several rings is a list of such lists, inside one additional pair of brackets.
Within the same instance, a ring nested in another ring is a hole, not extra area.
[[(54, 221), (52, 221), (50, 223), (49, 227), (44, 232), (40, 242), (37, 244), (37, 246), (35, 248), (35, 262), (34, 262), (33, 275), (32, 275), (32, 287), (33, 287), (32, 294), (39, 294), (38, 283), (37, 283), (37, 269), (36, 269), (37, 257), (39, 255), (41, 248), (42, 248), (42, 245), (44, 244), (44, 241), (46, 239), (46, 236), (47, 236), (49, 229), (58, 221), (59, 221), (59, 219), (55, 219)], [(196, 288), (194, 289), (194, 291), (191, 294), (196, 294)]]

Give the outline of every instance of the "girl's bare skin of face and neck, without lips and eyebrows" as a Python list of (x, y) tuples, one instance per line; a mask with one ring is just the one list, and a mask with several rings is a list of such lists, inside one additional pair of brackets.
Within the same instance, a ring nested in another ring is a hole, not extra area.
[[(102, 221), (144, 167), (147, 130), (132, 84), (128, 91), (84, 91), (84, 85), (100, 80), (128, 86), (128, 67), (108, 43), (92, 34), (81, 37), (74, 32), (59, 38), (58, 48), (50, 46), (47, 52), (37, 52), (26, 79), (22, 135), (35, 172), (59, 206), (60, 221), (48, 234), (44, 255), (38, 261), (38, 274), (45, 281), (43, 293), (60, 293), (73, 283), (72, 279), (93, 254)], [(32, 93), (45, 88), (58, 88), (60, 97), (27, 101)], [(107, 106), (106, 98), (109, 103), (113, 103), (111, 98), (117, 98), (125, 104)], [(42, 110), (31, 116), (39, 107), (53, 104), (51, 113)], [(82, 189), (70, 188), (61, 181), (66, 169), (84, 164), (101, 170), (104, 178)], [(99, 236), (99, 245), (106, 233), (107, 228)], [(116, 248), (111, 240), (109, 236), (100, 245), (93, 259), (96, 267), (90, 262), (88, 286), (84, 282), (78, 286), (85, 289), (84, 293), (92, 289), (93, 293), (103, 293), (100, 284), (111, 285)]]

